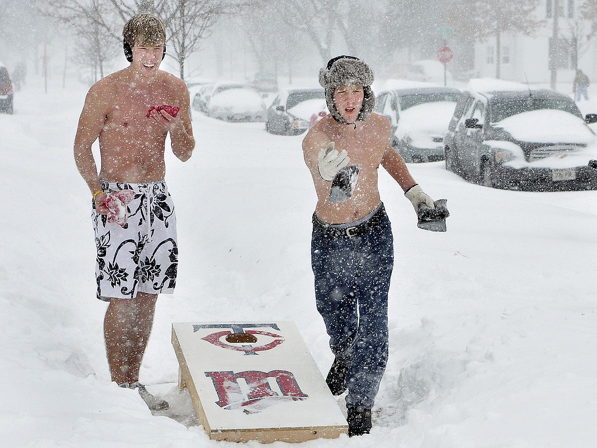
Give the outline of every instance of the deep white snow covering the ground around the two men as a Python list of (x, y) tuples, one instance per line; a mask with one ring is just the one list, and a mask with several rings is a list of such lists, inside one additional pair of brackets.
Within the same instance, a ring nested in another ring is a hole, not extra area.
[[(104, 355), (91, 198), (72, 156), (87, 87), (44, 94), (28, 82), (14, 115), (0, 115), (0, 445), (238, 446), (209, 440), (177, 391), (171, 323), (293, 320), (327, 373), (303, 136), (193, 113), (193, 157), (168, 155), (180, 264), (141, 369), (171, 404), (152, 415), (136, 391), (110, 384)], [(593, 106), (581, 103), (584, 113)], [(451, 216), (447, 233), (419, 230), (410, 202), (381, 174), (396, 263), (374, 428), (302, 445), (595, 446), (597, 191), (501, 191), (466, 183), (442, 162), (410, 169), (434, 199), (448, 198)]]

